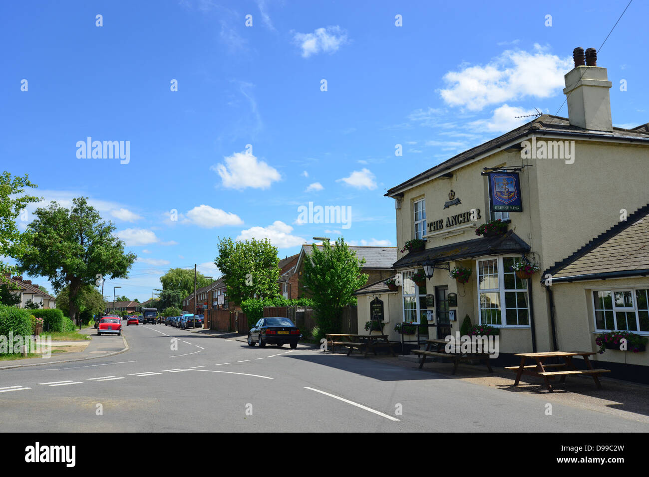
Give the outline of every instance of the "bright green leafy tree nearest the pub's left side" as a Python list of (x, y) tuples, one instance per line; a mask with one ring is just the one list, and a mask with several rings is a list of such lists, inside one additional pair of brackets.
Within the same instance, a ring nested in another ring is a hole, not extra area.
[(318, 326), (323, 333), (338, 332), (343, 307), (356, 305), (354, 291), (367, 283), (368, 275), (362, 273), (361, 261), (355, 251), (350, 251), (345, 239), (340, 237), (336, 245), (328, 240), (322, 250), (315, 244), (311, 255), (304, 259), (302, 286), (313, 300)]

